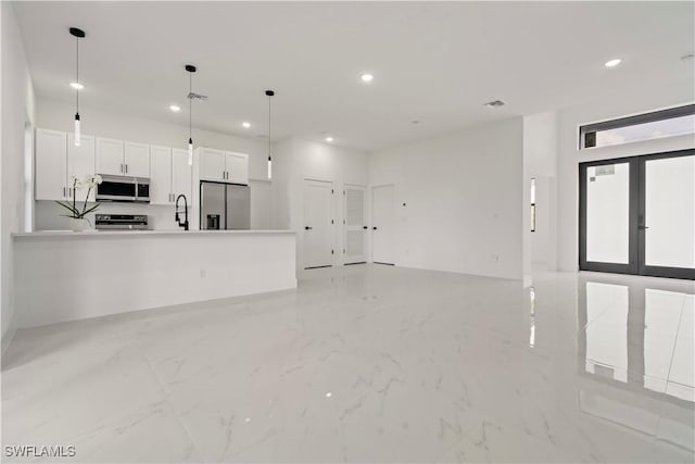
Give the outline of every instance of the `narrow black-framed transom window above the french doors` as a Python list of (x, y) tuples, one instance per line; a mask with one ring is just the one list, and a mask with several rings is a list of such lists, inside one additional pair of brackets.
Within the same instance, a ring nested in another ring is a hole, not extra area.
[(695, 134), (695, 104), (589, 124), (579, 128), (580, 149), (686, 134)]

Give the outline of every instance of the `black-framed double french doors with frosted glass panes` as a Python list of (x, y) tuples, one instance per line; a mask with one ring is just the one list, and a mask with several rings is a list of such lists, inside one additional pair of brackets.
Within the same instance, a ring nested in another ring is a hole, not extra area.
[(579, 267), (695, 279), (695, 150), (580, 163)]

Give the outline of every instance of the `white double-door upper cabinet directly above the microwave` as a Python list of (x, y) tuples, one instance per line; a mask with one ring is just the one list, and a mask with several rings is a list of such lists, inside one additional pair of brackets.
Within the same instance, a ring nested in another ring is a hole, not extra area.
[(114, 176), (150, 177), (150, 146), (98, 138), (97, 173)]

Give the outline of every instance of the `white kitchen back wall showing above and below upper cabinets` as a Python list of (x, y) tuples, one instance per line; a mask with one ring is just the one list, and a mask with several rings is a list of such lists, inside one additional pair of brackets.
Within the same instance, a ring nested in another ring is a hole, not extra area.
[[(165, 110), (163, 110), (165, 111)], [(72, 104), (41, 99), (37, 103), (37, 127), (71, 131), (75, 109)], [(188, 127), (142, 120), (131, 115), (110, 113), (80, 106), (83, 134), (128, 141), (186, 149)], [(218, 148), (249, 154), (249, 177), (267, 180), (267, 141), (232, 135), (199, 130), (193, 128), (195, 146)], [(253, 193), (253, 192), (252, 192)], [(190, 201), (190, 199), (189, 199)], [(266, 206), (265, 202), (254, 202), (255, 206)], [(99, 213), (148, 214), (150, 227), (164, 230), (176, 229), (173, 206), (103, 203)], [(60, 230), (70, 228), (68, 220), (61, 217), (62, 211), (54, 202), (38, 201), (35, 227), (37, 230)], [(258, 214), (263, 215), (263, 214)]]

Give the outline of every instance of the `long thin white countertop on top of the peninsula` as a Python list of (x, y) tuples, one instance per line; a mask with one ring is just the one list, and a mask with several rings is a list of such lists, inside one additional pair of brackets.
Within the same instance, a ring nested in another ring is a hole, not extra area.
[(93, 237), (187, 237), (187, 236), (235, 236), (235, 235), (294, 235), (294, 230), (41, 230), (12, 234), (16, 239), (30, 238), (93, 238)]

